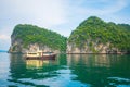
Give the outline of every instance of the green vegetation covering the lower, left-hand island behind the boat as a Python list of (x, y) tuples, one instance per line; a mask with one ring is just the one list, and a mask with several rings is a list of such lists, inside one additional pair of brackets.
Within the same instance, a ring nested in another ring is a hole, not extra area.
[(21, 39), (24, 48), (30, 44), (38, 44), (60, 51), (66, 50), (66, 37), (34, 25), (16, 25), (11, 37), (14, 39)]

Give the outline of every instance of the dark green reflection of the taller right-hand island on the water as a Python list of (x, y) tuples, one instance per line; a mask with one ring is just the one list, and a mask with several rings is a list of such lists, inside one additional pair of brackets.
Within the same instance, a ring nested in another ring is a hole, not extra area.
[[(73, 74), (77, 75), (74, 80), (94, 87), (130, 86), (129, 55), (70, 54), (67, 58)], [(127, 82), (118, 80), (120, 78)]]

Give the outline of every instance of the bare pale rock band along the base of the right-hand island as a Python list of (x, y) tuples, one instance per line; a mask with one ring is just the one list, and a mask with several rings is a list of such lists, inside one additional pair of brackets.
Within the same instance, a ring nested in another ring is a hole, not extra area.
[(83, 48), (76, 47), (74, 44), (67, 45), (67, 53), (127, 53), (127, 51), (120, 51), (118, 48), (110, 48), (110, 45), (95, 45), (93, 46), (83, 46)]

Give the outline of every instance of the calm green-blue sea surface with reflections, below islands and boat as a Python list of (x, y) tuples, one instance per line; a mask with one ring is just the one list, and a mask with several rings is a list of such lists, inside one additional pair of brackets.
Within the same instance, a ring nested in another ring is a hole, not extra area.
[(0, 87), (130, 87), (130, 55), (25, 60), (22, 54), (0, 52)]

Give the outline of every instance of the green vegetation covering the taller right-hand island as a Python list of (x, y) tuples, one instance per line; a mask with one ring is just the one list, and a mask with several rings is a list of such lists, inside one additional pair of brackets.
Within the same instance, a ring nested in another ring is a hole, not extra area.
[(68, 42), (75, 44), (78, 48), (83, 48), (86, 45), (92, 47), (92, 42), (110, 44), (110, 48), (130, 52), (130, 25), (106, 23), (96, 16), (91, 16), (72, 32)]

